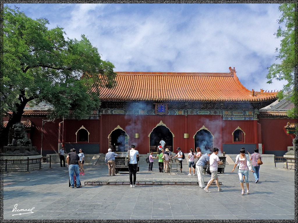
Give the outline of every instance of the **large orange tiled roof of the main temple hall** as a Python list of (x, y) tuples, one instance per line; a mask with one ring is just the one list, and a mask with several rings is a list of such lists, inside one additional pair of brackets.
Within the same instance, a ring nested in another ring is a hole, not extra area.
[(230, 73), (116, 72), (117, 86), (101, 88), (103, 101), (249, 101), (276, 99), (277, 92), (249, 91)]

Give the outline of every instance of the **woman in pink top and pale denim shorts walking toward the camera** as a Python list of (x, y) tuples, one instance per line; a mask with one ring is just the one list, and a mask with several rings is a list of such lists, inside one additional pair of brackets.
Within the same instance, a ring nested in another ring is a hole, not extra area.
[[(248, 183), (248, 173), (249, 170), (251, 172), (254, 172), (252, 170), (252, 167), (249, 163), (249, 156), (245, 154), (245, 150), (241, 148), (240, 154), (236, 156), (236, 161), (234, 164), (234, 168), (232, 169), (232, 172), (234, 172), (235, 167), (239, 163), (239, 170), (238, 170), (238, 175), (239, 175), (239, 181), (241, 185), (241, 194), (244, 195), (244, 187), (243, 187), (243, 181), (246, 183), (246, 194), (249, 194), (249, 183)], [(244, 175), (244, 180), (243, 180), (243, 175)]]

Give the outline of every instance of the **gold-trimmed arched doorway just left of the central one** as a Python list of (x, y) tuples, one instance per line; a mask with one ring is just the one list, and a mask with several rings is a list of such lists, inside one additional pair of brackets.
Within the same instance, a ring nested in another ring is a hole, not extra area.
[(126, 152), (128, 151), (128, 139), (129, 136), (118, 125), (109, 135), (109, 148), (114, 152)]

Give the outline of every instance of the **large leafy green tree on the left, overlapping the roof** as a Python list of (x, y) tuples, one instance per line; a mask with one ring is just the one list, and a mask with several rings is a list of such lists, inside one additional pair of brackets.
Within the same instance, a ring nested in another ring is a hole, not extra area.
[(65, 39), (63, 28), (48, 29), (47, 19), (33, 20), (17, 7), (4, 7), (1, 17), (0, 118), (9, 116), (1, 128), (2, 142), (21, 121), (27, 103), (50, 103), (49, 118), (66, 117), (72, 110), (81, 119), (99, 108), (97, 89), (114, 87), (116, 73), (84, 35)]

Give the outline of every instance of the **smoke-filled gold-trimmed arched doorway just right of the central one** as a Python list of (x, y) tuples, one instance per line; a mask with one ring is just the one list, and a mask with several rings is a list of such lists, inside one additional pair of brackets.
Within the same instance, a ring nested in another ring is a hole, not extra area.
[(213, 151), (214, 136), (204, 125), (196, 132), (193, 138), (195, 139), (195, 148), (200, 147), (202, 153)]

